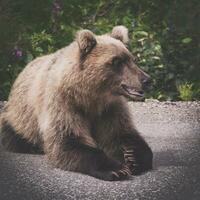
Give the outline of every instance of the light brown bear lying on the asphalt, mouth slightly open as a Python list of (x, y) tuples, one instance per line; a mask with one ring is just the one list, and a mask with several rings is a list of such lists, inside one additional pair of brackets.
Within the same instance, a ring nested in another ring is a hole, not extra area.
[(18, 76), (1, 119), (4, 146), (41, 150), (60, 169), (121, 180), (152, 168), (152, 151), (131, 120), (127, 100), (142, 100), (149, 76), (127, 49), (128, 30), (89, 30)]

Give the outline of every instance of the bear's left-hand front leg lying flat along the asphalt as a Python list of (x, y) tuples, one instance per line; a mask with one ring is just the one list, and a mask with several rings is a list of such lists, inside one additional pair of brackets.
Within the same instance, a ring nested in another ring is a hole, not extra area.
[(98, 148), (83, 144), (77, 137), (67, 137), (62, 142), (46, 141), (45, 153), (55, 167), (106, 181), (122, 180), (131, 174), (126, 165), (108, 158)]

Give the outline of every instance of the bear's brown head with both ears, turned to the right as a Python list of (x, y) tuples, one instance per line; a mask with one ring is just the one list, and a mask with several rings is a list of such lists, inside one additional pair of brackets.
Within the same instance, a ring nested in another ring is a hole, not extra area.
[(135, 62), (127, 48), (128, 30), (116, 26), (112, 33), (97, 36), (89, 30), (77, 33), (79, 73), (89, 95), (144, 99), (143, 86), (149, 76)]

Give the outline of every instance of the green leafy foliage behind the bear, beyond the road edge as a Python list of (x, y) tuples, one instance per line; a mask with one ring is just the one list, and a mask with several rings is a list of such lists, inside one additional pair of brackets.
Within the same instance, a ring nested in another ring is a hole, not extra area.
[[(68, 45), (77, 30), (96, 34), (123, 24), (130, 50), (152, 77), (149, 97), (200, 99), (198, 0), (1, 0), (0, 99), (37, 56)], [(190, 83), (190, 84), (188, 84)]]

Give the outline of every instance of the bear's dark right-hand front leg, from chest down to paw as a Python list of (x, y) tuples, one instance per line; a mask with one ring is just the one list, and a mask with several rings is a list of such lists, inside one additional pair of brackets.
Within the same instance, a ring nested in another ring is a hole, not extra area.
[(128, 108), (113, 104), (96, 123), (95, 138), (110, 157), (125, 162), (132, 174), (152, 168), (153, 154), (134, 127)]

